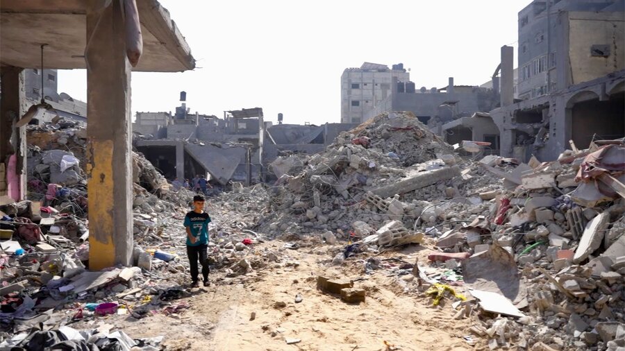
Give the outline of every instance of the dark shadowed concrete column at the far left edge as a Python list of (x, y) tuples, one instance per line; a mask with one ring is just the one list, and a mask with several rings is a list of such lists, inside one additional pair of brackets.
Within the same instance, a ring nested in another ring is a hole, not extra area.
[[(26, 195), (26, 126), (16, 128), (17, 121), (25, 110), (24, 103), (24, 69), (20, 67), (0, 67), (0, 84), (2, 103), (0, 103), (0, 162), (5, 164), (8, 172), (8, 157), (17, 155), (16, 173), (19, 177), (17, 197), (22, 200)], [(8, 185), (7, 185), (8, 187)], [(7, 188), (8, 189), (8, 188)], [(10, 194), (9, 194), (10, 195)]]

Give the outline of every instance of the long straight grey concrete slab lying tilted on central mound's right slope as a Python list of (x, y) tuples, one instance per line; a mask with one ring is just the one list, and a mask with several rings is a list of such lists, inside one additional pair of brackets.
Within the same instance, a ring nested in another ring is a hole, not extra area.
[(401, 195), (409, 191), (427, 187), (428, 185), (433, 185), (441, 180), (447, 180), (458, 176), (460, 176), (458, 166), (443, 167), (433, 171), (417, 172), (405, 180), (379, 187), (372, 192), (381, 198), (388, 198), (395, 194)]

